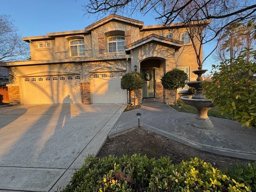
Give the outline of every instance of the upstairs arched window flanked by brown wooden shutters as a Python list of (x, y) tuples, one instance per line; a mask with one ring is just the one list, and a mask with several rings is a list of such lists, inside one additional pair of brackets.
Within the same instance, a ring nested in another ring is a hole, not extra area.
[(125, 39), (124, 36), (113, 36), (108, 38), (108, 52), (124, 51)]

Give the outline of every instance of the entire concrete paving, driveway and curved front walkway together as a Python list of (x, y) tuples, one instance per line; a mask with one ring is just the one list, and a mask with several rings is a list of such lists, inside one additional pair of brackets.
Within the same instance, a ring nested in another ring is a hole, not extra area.
[(256, 129), (210, 117), (214, 128), (191, 125), (195, 114), (153, 101), (125, 105), (23, 105), (0, 108), (0, 192), (53, 192), (68, 184), (88, 154), (107, 136), (140, 126), (199, 150), (256, 160)]

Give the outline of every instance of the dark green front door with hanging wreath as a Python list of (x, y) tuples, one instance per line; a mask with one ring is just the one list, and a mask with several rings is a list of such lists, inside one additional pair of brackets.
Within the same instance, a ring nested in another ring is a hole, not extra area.
[[(142, 69), (142, 75), (144, 77), (144, 86), (142, 88), (143, 98), (155, 97), (155, 70), (154, 69)], [(146, 78), (145, 78), (146, 76)], [(147, 79), (147, 80), (145, 80)]]

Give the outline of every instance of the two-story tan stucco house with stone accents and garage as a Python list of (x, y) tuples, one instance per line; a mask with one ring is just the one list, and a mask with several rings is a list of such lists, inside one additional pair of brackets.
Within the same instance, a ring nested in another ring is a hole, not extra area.
[(196, 54), (186, 28), (172, 24), (144, 26), (142, 21), (110, 15), (84, 30), (25, 37), (31, 60), (2, 64), (8, 68), (10, 104), (127, 103), (120, 88), (124, 74), (150, 73), (138, 101), (171, 98), (160, 77), (173, 68), (190, 80)]

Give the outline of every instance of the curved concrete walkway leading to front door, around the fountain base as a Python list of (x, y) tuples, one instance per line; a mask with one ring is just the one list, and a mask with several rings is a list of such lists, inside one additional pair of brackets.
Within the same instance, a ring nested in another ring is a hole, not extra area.
[(191, 125), (195, 114), (178, 112), (161, 102), (144, 103), (141, 108), (123, 112), (109, 137), (122, 134), (138, 126), (136, 113), (140, 112), (140, 126), (193, 148), (247, 160), (256, 160), (256, 129), (241, 127), (233, 120), (210, 117), (212, 130)]

